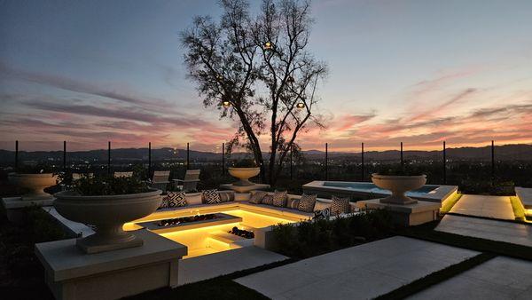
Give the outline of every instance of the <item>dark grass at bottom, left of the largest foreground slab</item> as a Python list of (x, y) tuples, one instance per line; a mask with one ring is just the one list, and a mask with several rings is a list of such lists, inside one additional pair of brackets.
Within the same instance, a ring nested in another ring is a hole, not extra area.
[(277, 263), (263, 264), (252, 269), (232, 272), (231, 274), (218, 276), (209, 280), (201, 280), (177, 288), (159, 288), (135, 296), (126, 297), (124, 299), (269, 299), (267, 296), (263, 296), (254, 289), (247, 288), (233, 280), (255, 272), (262, 272), (281, 265), (292, 264), (296, 261), (297, 259), (288, 258)]

